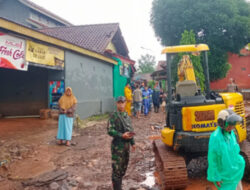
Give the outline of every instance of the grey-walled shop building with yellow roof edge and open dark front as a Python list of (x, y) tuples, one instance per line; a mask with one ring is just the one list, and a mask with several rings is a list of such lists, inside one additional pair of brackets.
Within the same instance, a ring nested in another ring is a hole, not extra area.
[[(51, 106), (51, 96), (60, 94), (64, 86), (73, 88), (78, 99), (77, 113), (82, 118), (113, 111), (114, 59), (4, 18), (0, 18), (0, 32), (12, 45), (25, 43), (19, 66), (10, 68), (1, 59), (1, 115), (39, 115), (40, 109)], [(50, 88), (55, 84), (56, 91)]]

